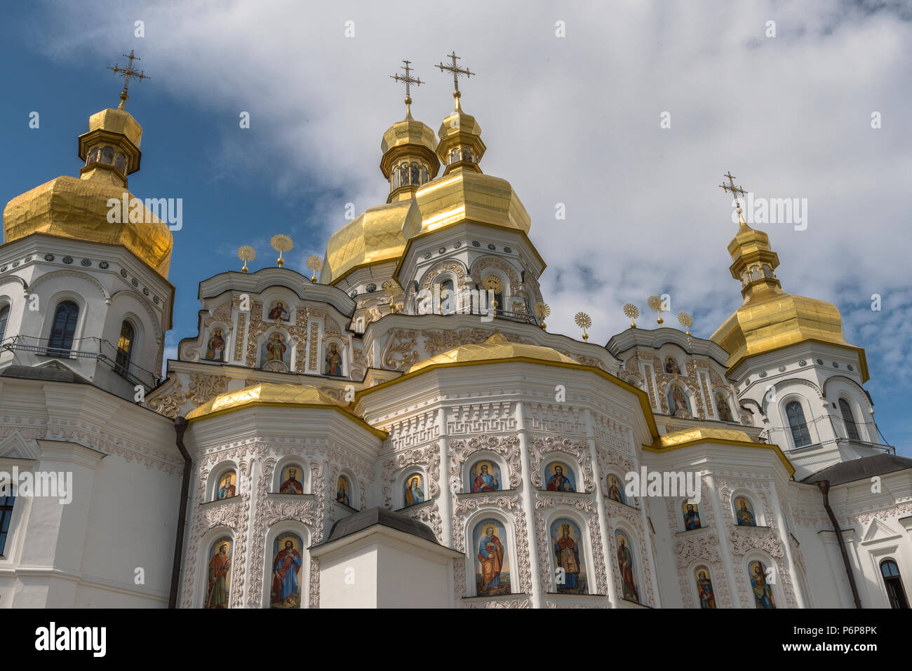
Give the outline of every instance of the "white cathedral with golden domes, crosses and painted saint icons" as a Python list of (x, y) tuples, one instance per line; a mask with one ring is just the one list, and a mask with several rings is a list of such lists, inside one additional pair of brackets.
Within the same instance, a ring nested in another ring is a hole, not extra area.
[(436, 134), (408, 62), (395, 77), (386, 201), (309, 277), (283, 234), (275, 265), (242, 247), (167, 362), (174, 241), (128, 191), (126, 87), (77, 176), (6, 204), (0, 605), (907, 608), (912, 459), (880, 438), (838, 309), (787, 293), (740, 218), (743, 303), (709, 339), (659, 296), (658, 324), (627, 305), (606, 345), (583, 313), (580, 339), (549, 331), (530, 216), (462, 107), (472, 73), (440, 68)]

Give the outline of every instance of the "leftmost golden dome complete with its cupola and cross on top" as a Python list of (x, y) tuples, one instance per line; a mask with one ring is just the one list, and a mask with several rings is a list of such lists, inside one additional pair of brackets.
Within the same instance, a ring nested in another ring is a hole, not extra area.
[[(168, 277), (174, 239), (168, 224), (140, 207), (127, 191), (127, 175), (140, 170), (142, 127), (124, 104), (130, 78), (149, 78), (130, 66), (110, 69), (124, 77), (117, 109), (102, 109), (88, 119), (88, 132), (79, 136), (79, 158), (85, 165), (79, 178), (57, 177), (6, 204), (4, 242), (44, 233), (91, 243), (120, 244), (162, 277)], [(109, 201), (130, 203), (124, 219), (112, 222)]]

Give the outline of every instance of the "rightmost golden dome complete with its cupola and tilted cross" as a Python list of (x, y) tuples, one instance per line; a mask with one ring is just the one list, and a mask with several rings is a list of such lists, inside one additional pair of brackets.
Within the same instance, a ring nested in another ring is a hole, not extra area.
[(735, 195), (738, 232), (731, 239), (731, 276), (741, 282), (744, 303), (710, 340), (729, 353), (728, 367), (738, 366), (749, 356), (757, 356), (806, 341), (843, 346), (855, 350), (863, 379), (867, 379), (865, 350), (845, 342), (842, 315), (832, 303), (782, 291), (774, 271), (779, 256), (772, 251), (770, 236), (744, 221), (731, 174), (730, 185), (722, 185)]

